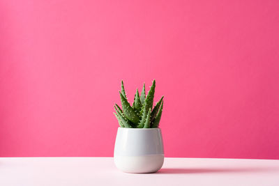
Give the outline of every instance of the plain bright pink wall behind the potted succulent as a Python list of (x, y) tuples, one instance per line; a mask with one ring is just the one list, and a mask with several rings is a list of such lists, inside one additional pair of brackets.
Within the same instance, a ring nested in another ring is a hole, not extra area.
[(279, 1), (0, 1), (0, 156), (112, 156), (157, 80), (167, 157), (279, 159)]

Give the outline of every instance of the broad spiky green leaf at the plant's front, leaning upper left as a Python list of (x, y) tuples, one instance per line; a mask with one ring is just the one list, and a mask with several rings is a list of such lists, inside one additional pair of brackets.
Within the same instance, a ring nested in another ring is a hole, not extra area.
[(140, 118), (139, 118), (139, 116), (137, 116), (134, 109), (132, 107), (130, 107), (128, 100), (122, 95), (121, 92), (119, 92), (119, 94), (120, 94), (120, 98), (121, 98), (121, 104), (122, 104), (124, 116), (126, 116), (126, 118), (134, 124), (139, 123)]

